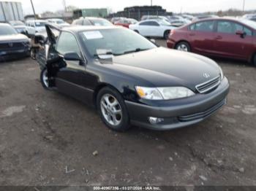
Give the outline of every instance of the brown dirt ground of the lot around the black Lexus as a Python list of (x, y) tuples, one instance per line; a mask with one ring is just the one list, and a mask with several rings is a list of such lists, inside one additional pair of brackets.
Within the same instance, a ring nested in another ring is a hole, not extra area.
[(126, 133), (44, 90), (30, 58), (0, 63), (0, 184), (256, 185), (256, 68), (217, 62), (231, 85), (220, 112), (189, 128)]

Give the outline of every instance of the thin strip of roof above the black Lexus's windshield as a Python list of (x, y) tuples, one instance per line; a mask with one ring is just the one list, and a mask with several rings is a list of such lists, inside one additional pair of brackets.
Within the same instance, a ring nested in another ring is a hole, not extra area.
[(81, 31), (93, 31), (93, 30), (104, 30), (104, 29), (114, 29), (123, 28), (121, 26), (68, 26), (62, 28), (61, 31), (70, 31), (73, 33), (79, 33)]

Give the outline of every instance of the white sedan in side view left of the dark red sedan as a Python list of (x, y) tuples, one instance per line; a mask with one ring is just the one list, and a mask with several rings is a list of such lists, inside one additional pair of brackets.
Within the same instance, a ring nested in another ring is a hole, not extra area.
[(165, 20), (143, 20), (134, 25), (130, 25), (129, 28), (142, 36), (163, 37), (168, 39), (170, 31), (176, 27), (170, 26), (170, 23)]

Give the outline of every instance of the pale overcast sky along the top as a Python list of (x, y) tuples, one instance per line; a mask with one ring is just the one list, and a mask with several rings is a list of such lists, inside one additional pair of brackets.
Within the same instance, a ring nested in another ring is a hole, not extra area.
[[(8, 1), (8, 0), (5, 0)], [(23, 4), (23, 11), (26, 14), (32, 13), (30, 0), (15, 0)], [(36, 13), (45, 11), (56, 11), (64, 9), (64, 0), (33, 0)], [(65, 0), (67, 6), (73, 5), (79, 8), (109, 8), (121, 11), (124, 7), (132, 7), (135, 5), (150, 5), (151, 0)], [(245, 9), (256, 9), (256, 0), (152, 0), (153, 5), (160, 5), (170, 12), (208, 12), (226, 10), (230, 8), (243, 9), (245, 1)]]

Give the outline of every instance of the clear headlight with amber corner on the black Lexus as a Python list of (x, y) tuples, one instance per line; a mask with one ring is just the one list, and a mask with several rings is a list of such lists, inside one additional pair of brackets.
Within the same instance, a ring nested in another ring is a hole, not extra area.
[(170, 100), (195, 95), (187, 87), (136, 87), (140, 98), (149, 100)]

